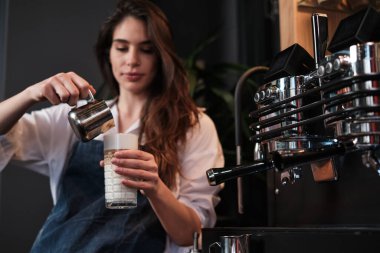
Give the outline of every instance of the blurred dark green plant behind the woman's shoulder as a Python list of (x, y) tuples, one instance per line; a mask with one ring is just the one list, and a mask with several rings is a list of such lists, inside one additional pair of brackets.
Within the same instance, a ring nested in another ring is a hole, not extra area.
[[(215, 42), (218, 35), (212, 35), (199, 43), (191, 54), (184, 59), (188, 78), (190, 80), (190, 94), (198, 106), (204, 107), (207, 114), (213, 119), (223, 146), (226, 163), (235, 162), (235, 125), (234, 125), (234, 89), (239, 77), (249, 67), (242, 64), (218, 63), (207, 65), (201, 58), (202, 53)], [(231, 82), (234, 85), (231, 87)], [(258, 85), (253, 80), (246, 80), (244, 91), (248, 94), (243, 103), (243, 139), (249, 142), (252, 134), (249, 130), (249, 112), (254, 109), (250, 96), (254, 94)], [(250, 153), (249, 150), (247, 150)], [(252, 153), (251, 153), (252, 154)], [(247, 156), (247, 155), (244, 155)], [(248, 156), (251, 156), (248, 154)]]

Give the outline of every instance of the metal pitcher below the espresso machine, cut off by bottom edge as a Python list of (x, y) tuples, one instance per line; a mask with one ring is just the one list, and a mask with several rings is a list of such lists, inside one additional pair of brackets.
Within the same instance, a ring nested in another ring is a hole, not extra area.
[(214, 253), (217, 247), (222, 253), (249, 253), (250, 237), (251, 234), (220, 236), (220, 242), (209, 246), (209, 253)]

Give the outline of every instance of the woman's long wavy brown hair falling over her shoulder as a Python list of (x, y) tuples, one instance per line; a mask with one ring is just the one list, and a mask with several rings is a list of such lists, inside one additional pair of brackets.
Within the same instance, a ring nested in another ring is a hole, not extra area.
[(190, 97), (189, 82), (181, 60), (175, 53), (171, 29), (165, 14), (148, 0), (122, 0), (105, 21), (96, 43), (96, 55), (105, 82), (116, 95), (119, 84), (112, 74), (109, 51), (113, 32), (125, 17), (145, 22), (148, 36), (158, 55), (158, 72), (150, 86), (150, 97), (141, 115), (139, 139), (145, 135), (145, 150), (152, 153), (159, 175), (171, 189), (180, 173), (178, 148), (183, 147), (188, 130), (198, 123), (198, 109)]

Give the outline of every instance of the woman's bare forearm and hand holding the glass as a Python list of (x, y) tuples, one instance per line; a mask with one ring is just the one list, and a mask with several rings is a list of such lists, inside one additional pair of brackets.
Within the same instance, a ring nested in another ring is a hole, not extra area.
[[(194, 231), (200, 231), (201, 221), (195, 210), (181, 203), (158, 175), (158, 165), (152, 154), (141, 150), (121, 150), (111, 159), (115, 172), (125, 177), (122, 183), (143, 191), (167, 234), (178, 245), (189, 245)], [(100, 162), (104, 165), (104, 161)], [(178, 227), (187, 224), (187, 229)]]

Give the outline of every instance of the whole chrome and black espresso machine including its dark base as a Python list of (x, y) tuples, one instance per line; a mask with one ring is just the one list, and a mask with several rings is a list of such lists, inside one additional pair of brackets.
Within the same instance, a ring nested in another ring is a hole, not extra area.
[(314, 55), (298, 44), (281, 51), (252, 96), (253, 162), (241, 161), (236, 138), (236, 165), (206, 173), (210, 185), (237, 179), (238, 204), (241, 179), (267, 173), (267, 226), (205, 228), (206, 248), (251, 234), (253, 252), (378, 251), (380, 13), (343, 19), (329, 43), (327, 15), (311, 21)]

